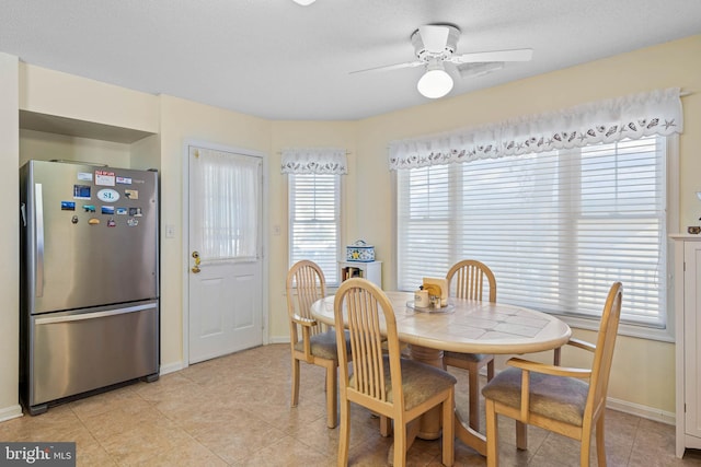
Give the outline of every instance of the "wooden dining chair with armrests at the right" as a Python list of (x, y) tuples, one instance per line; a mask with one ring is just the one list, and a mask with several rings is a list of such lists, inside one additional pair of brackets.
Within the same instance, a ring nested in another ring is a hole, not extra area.
[[(581, 442), (579, 465), (589, 465), (591, 432), (596, 427), (599, 466), (606, 466), (604, 419), (613, 347), (621, 315), (622, 285), (609, 290), (596, 346), (577, 339), (567, 345), (594, 354), (591, 369), (575, 369), (513, 358), (482, 394), (486, 399), (487, 466), (498, 465), (497, 415), (516, 420), (516, 445), (527, 448), (526, 424)], [(583, 381), (588, 378), (588, 383)]]

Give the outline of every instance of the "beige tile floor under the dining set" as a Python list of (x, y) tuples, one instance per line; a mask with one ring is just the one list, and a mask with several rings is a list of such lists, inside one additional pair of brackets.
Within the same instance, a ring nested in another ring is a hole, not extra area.
[[(461, 370), (456, 395), (467, 408)], [(0, 423), (1, 441), (74, 441), (79, 466), (335, 466), (338, 429), (325, 424), (324, 372), (303, 364), (300, 404), (289, 407), (287, 345), (272, 345), (192, 365), (108, 393)], [(467, 410), (467, 409), (466, 409)], [(365, 409), (352, 409), (350, 465), (386, 465), (390, 439)], [(484, 417), (482, 417), (484, 431)], [(516, 450), (514, 425), (499, 424), (502, 466), (578, 465), (578, 443), (529, 428), (529, 448)], [(609, 466), (701, 466), (701, 454), (675, 457), (675, 429), (607, 412)], [(596, 466), (596, 456), (591, 455)], [(414, 443), (410, 466), (439, 466), (440, 442)], [(485, 459), (460, 442), (456, 466)]]

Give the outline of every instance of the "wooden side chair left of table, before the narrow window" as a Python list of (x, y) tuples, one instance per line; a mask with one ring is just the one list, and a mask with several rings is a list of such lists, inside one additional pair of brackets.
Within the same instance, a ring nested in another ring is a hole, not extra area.
[(326, 427), (336, 428), (338, 424), (336, 334), (311, 316), (311, 304), (325, 295), (326, 281), (319, 265), (310, 260), (301, 260), (292, 265), (287, 272), (287, 312), (292, 357), (291, 406), (297, 407), (299, 404), (299, 362), (323, 366), (326, 369)]

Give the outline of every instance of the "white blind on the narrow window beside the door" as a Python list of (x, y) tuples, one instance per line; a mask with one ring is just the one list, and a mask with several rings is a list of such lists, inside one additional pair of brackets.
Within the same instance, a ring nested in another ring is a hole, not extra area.
[(317, 262), (327, 285), (338, 283), (341, 176), (289, 174), (289, 264)]

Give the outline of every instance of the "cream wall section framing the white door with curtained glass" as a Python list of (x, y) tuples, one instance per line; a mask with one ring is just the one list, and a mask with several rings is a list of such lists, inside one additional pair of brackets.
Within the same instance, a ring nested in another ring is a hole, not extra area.
[[(161, 366), (173, 371), (186, 365), (182, 337), (183, 280), (188, 271), (182, 231), (184, 145), (189, 140), (269, 154), (271, 122), (170, 96), (161, 96), (160, 116), (161, 224), (175, 226), (174, 238), (161, 235)], [(265, 311), (267, 302), (266, 295)]]

